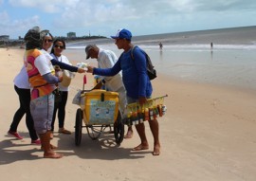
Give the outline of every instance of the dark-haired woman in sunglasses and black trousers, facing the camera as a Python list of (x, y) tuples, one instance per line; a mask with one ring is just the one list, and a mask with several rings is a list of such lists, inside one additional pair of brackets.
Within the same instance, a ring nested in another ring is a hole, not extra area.
[[(50, 55), (57, 61), (61, 63), (66, 63), (70, 64), (68, 59), (62, 54), (63, 50), (65, 49), (65, 43), (64, 40), (62, 39), (56, 39), (53, 42), (53, 46), (50, 51)], [(62, 71), (60, 67), (55, 66), (55, 71), (59, 72)], [(58, 83), (58, 88), (61, 93), (61, 100), (59, 102), (55, 102), (54, 104), (54, 112), (53, 112), (53, 117), (52, 117), (52, 123), (51, 123), (51, 132), (54, 132), (54, 123), (55, 123), (55, 118), (58, 112), (58, 119), (59, 119), (59, 133), (70, 135), (71, 132), (64, 129), (64, 118), (65, 118), (65, 105), (66, 105), (66, 100), (68, 97), (68, 86), (65, 87), (61, 83)]]

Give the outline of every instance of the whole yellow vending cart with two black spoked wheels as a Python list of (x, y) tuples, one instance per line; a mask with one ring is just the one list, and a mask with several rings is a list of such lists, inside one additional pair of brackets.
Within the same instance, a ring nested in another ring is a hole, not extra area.
[(84, 90), (85, 80), (86, 77), (84, 76), (80, 108), (77, 109), (76, 113), (76, 145), (81, 144), (83, 127), (86, 128), (88, 136), (92, 139), (97, 139), (103, 132), (109, 132), (109, 129), (112, 131), (114, 128), (116, 143), (120, 144), (124, 136), (124, 124), (121, 121), (119, 111), (119, 93), (102, 89)]

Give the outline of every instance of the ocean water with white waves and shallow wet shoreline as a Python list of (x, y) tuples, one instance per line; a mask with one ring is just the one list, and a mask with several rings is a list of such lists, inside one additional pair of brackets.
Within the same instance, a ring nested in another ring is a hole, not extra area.
[[(163, 44), (162, 50), (159, 42)], [(122, 52), (111, 39), (70, 43), (65, 51), (77, 62), (95, 63), (85, 60), (84, 47), (89, 44), (113, 50), (118, 56)], [(256, 89), (256, 27), (137, 36), (133, 44), (150, 55), (160, 74)]]

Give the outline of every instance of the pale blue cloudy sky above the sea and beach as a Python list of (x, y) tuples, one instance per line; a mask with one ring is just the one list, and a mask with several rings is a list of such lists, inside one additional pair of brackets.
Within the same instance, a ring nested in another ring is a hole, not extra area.
[(255, 0), (0, 0), (0, 35), (31, 27), (53, 36), (133, 36), (256, 25)]

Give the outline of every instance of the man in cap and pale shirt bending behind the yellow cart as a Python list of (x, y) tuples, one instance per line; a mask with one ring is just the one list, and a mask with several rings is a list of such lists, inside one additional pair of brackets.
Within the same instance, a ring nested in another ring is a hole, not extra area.
[[(85, 47), (86, 59), (97, 59), (99, 68), (111, 68), (118, 61), (117, 55), (110, 50), (99, 48), (97, 45), (87, 45)], [(99, 82), (99, 87), (106, 86), (107, 90), (118, 92), (120, 101), (120, 111), (123, 114), (126, 106), (126, 91), (122, 82), (122, 76), (119, 72), (113, 77), (102, 77)], [(131, 138), (133, 136), (132, 126), (128, 127), (128, 132), (124, 138)]]

